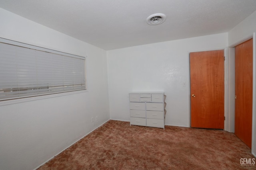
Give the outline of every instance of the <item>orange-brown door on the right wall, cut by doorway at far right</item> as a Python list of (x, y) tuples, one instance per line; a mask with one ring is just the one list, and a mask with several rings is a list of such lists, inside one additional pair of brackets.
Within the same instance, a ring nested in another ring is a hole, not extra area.
[(252, 147), (252, 39), (235, 47), (235, 135)]

